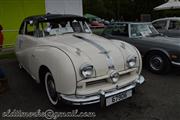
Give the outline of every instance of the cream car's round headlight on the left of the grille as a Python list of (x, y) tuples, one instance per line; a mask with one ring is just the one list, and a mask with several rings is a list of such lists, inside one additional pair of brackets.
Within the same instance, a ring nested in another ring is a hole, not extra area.
[(92, 65), (83, 65), (80, 68), (80, 74), (83, 78), (90, 78), (93, 76), (94, 67)]

